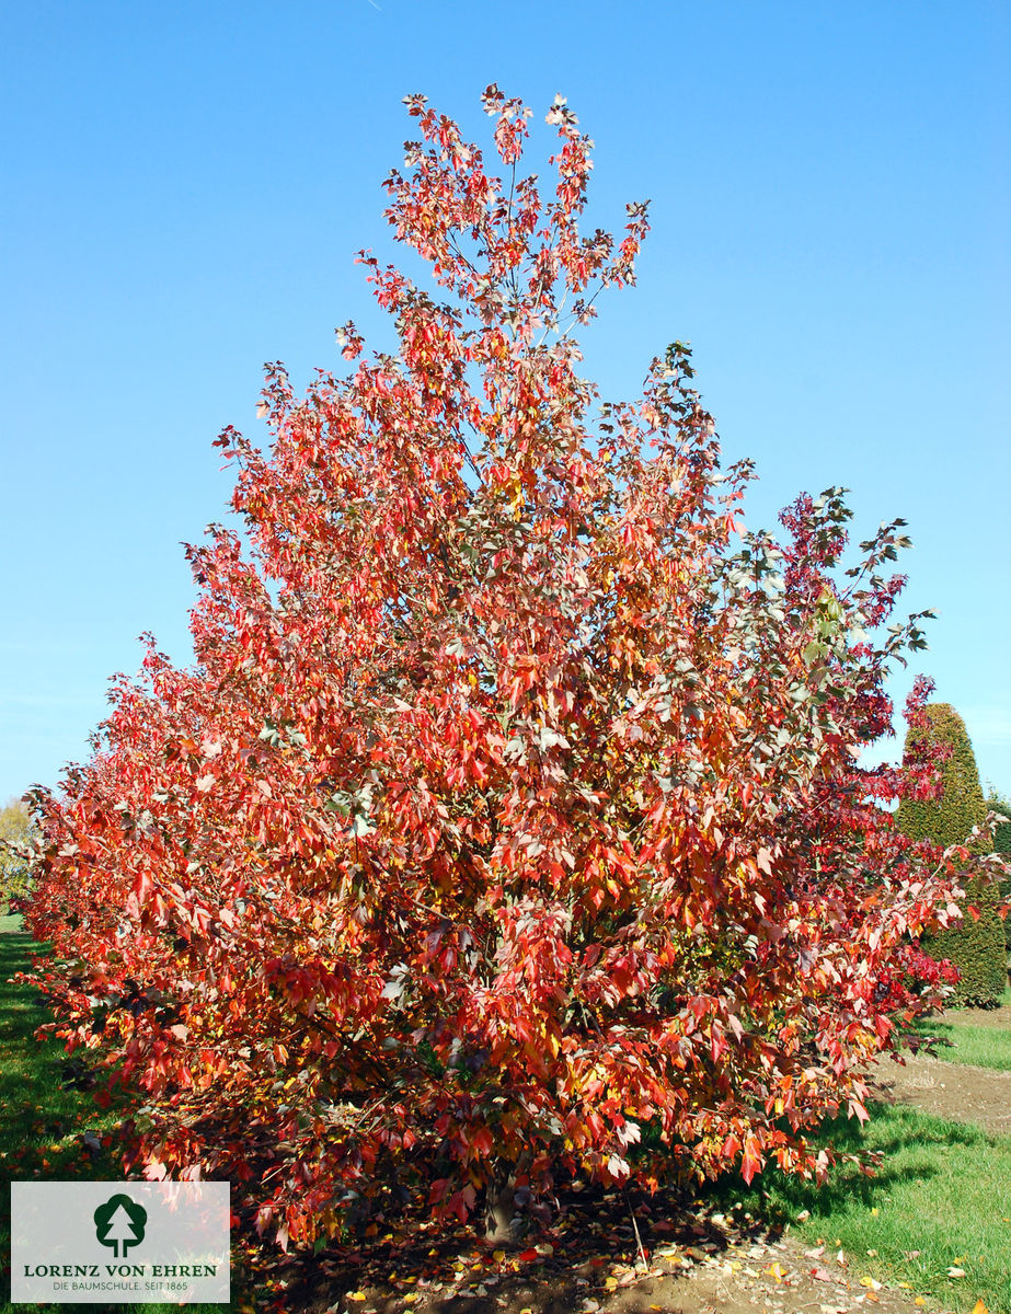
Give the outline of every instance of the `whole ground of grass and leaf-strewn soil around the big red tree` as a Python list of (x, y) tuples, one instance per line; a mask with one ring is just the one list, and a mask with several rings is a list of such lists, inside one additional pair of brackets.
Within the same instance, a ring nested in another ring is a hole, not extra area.
[[(116, 1179), (116, 1112), (95, 1106), (83, 1064), (33, 1039), (45, 1013), (30, 987), (11, 980), (28, 964), (29, 946), (13, 918), (0, 921), (0, 1163), (8, 1180)], [(1011, 1137), (985, 1130), (1011, 1099), (1008, 1017), (1006, 1001), (991, 1014), (935, 1022), (933, 1034), (951, 1041), (941, 1050), (949, 1062), (887, 1064), (869, 1125), (826, 1129), (843, 1152), (882, 1152), (873, 1179), (845, 1164), (818, 1192), (765, 1173), (751, 1190), (728, 1183), (705, 1201), (586, 1188), (565, 1197), (555, 1226), (515, 1254), (475, 1243), (463, 1229), (427, 1226), (308, 1263), (256, 1261), (237, 1248), (231, 1307), (961, 1314), (982, 1300), (990, 1314), (1011, 1314)], [(995, 1083), (990, 1097), (972, 1080), (979, 1072)], [(947, 1117), (927, 1112), (941, 1088)], [(952, 1100), (962, 1100), (956, 1116)]]

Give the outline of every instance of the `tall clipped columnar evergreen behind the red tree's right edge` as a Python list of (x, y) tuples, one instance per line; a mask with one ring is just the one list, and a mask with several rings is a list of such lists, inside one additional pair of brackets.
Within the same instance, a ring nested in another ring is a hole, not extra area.
[[(939, 750), (941, 787), (933, 798), (902, 800), (897, 816), (901, 829), (914, 840), (929, 840), (940, 848), (969, 844), (978, 853), (993, 849), (994, 840), (985, 830), (987, 804), (973, 745), (965, 721), (951, 704), (932, 703), (924, 710), (923, 721), (910, 727), (907, 752), (922, 745)], [(954, 995), (960, 1003), (993, 1008), (1007, 984), (1007, 949), (998, 915), (1000, 890), (969, 872), (966, 897), (969, 907), (962, 924), (929, 937), (924, 947), (957, 967)]]

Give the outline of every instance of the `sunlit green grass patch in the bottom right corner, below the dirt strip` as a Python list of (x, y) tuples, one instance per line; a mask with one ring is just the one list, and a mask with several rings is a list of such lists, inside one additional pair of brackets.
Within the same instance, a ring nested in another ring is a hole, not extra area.
[[(903, 1281), (949, 1310), (982, 1298), (990, 1314), (1011, 1314), (1011, 1137), (903, 1105), (872, 1114), (862, 1131), (845, 1120), (826, 1131), (840, 1152), (883, 1151), (877, 1176), (843, 1164), (818, 1190), (766, 1172), (735, 1198), (756, 1215), (794, 1219), (793, 1235), (809, 1246), (844, 1250), (851, 1282)], [(795, 1222), (805, 1209), (811, 1217)], [(952, 1267), (965, 1277), (949, 1279)]]

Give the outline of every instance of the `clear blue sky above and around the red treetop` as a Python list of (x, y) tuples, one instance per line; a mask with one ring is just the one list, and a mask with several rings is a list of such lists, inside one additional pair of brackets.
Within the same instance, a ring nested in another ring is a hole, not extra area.
[(752, 526), (830, 484), (860, 537), (905, 515), (922, 669), (1011, 792), (1008, 67), (982, 0), (5, 5), (0, 800), (87, 756), (142, 631), (187, 660), (213, 438), (264, 436), (263, 361), (301, 385), (375, 334), (401, 97), (485, 134), (492, 80), (538, 122), (568, 97), (594, 219), (653, 202), (586, 372), (635, 396), (689, 339)]

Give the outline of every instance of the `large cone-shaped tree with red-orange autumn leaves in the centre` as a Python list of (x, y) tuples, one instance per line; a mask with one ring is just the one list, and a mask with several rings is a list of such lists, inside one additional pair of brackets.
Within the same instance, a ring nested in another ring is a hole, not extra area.
[(396, 353), (348, 323), (347, 376), (268, 368), (271, 453), (218, 439), (246, 541), (189, 549), (197, 665), (150, 641), (37, 795), (63, 1034), (143, 1093), (134, 1163), (230, 1177), (281, 1244), (411, 1205), (502, 1235), (577, 1173), (823, 1175), (894, 953), (957, 913), (881, 805), (929, 762), (858, 763), (923, 645), (876, 637), (902, 522), (845, 573), (840, 490), (747, 532), (681, 343), (598, 405), (565, 315), (632, 281), (646, 206), (581, 235), (564, 101), (547, 197), (530, 112), (484, 105), (504, 179), (411, 96), (387, 181), (442, 300), (363, 254)]

